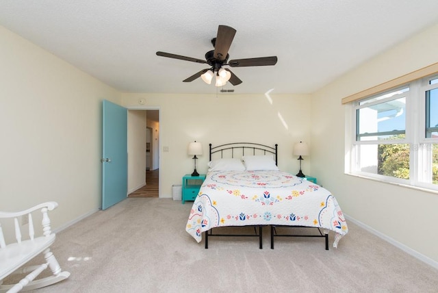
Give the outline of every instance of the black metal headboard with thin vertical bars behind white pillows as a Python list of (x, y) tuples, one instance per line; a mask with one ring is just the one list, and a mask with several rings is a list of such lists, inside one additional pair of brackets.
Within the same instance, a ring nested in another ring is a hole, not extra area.
[(265, 144), (256, 144), (253, 142), (233, 142), (230, 144), (222, 144), (220, 146), (211, 147), (209, 144), (209, 160), (211, 161), (212, 155), (214, 153), (219, 153), (220, 158), (223, 158), (224, 155), (226, 157), (234, 157), (235, 155), (266, 155), (268, 153), (272, 153), (275, 157), (275, 164), (277, 164), (277, 151), (278, 144), (275, 144), (275, 147), (267, 146)]

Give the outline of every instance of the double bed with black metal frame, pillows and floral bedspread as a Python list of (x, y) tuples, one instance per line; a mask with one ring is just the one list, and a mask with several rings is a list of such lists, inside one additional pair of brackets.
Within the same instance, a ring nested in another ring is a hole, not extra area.
[[(335, 197), (311, 181), (277, 168), (278, 146), (248, 142), (209, 145), (209, 171), (196, 197), (186, 231), (197, 241), (205, 236), (205, 249), (221, 227), (254, 227), (254, 233), (233, 237), (256, 237), (262, 249), (263, 227), (270, 226), (271, 249), (276, 237), (320, 237), (329, 249), (346, 235), (348, 227)], [(284, 227), (311, 227), (318, 233), (278, 233)]]

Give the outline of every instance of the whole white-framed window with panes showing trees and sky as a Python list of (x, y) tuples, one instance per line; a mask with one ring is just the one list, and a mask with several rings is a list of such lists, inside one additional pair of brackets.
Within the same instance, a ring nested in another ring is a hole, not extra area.
[(353, 102), (350, 173), (438, 190), (438, 77)]

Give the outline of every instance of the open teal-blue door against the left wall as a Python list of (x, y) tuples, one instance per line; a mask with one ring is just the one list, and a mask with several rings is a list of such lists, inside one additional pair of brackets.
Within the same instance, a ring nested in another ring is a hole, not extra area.
[(128, 110), (103, 101), (102, 119), (102, 209), (127, 198)]

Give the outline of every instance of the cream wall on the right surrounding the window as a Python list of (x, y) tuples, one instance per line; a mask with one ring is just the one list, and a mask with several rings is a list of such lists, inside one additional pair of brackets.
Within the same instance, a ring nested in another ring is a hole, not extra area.
[[(341, 99), (438, 62), (438, 25), (369, 60), (313, 94), (311, 169), (344, 213), (438, 262), (438, 194), (344, 175)], [(438, 266), (437, 266), (438, 267)]]

